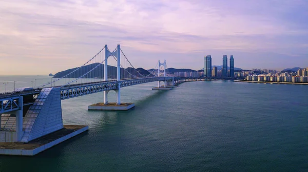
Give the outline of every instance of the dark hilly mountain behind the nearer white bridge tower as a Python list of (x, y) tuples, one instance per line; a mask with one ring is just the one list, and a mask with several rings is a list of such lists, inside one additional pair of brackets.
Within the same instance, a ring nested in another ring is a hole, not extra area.
[[(89, 72), (94, 67), (96, 67), (96, 68), (93, 71)], [(68, 69), (68, 70), (65, 70), (65, 71), (58, 72), (58, 73), (53, 75), (53, 78), (62, 78), (64, 76), (66, 76), (67, 74), (73, 72), (76, 69), (78, 69), (78, 68), (72, 68), (72, 69)], [(102, 65), (101, 63), (92, 63), (90, 65), (81, 67), (81, 69), (73, 72), (72, 74), (69, 74), (68, 76), (66, 76), (66, 78), (79, 78), (82, 75), (86, 74), (87, 72), (89, 72), (89, 73), (87, 75), (85, 75), (83, 78), (95, 78), (95, 77), (96, 78), (104, 78), (104, 65)], [(132, 75), (137, 75), (138, 77), (142, 77), (142, 75), (143, 76), (148, 76), (148, 75), (154, 76), (143, 68), (138, 68), (138, 69), (121, 68), (120, 72), (121, 72), (121, 78), (133, 77)], [(117, 78), (117, 67), (108, 65), (108, 78), (113, 78), (113, 79)]]

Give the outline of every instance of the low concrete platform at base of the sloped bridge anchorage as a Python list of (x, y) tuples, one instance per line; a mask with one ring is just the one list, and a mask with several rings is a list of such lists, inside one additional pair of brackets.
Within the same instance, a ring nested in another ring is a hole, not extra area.
[(61, 130), (24, 142), (0, 142), (0, 155), (33, 156), (88, 130), (87, 125), (64, 125)]

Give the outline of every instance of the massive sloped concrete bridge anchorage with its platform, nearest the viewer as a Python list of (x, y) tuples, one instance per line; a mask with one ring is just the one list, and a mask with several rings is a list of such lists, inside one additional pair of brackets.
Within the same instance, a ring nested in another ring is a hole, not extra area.
[(15, 97), (6, 104), (14, 107), (11, 111), (0, 107), (5, 120), (0, 155), (33, 156), (88, 130), (85, 125), (63, 125), (60, 88), (44, 88), (37, 98), (33, 95)]

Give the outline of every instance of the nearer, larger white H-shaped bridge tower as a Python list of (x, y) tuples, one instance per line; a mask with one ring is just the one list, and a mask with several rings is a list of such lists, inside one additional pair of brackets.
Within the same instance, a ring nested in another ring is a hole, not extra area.
[[(120, 45), (118, 44), (117, 49), (115, 49), (113, 52), (110, 52), (108, 50), (107, 45), (105, 45), (105, 64), (104, 64), (104, 81), (108, 81), (108, 57), (110, 56), (114, 56), (115, 58), (117, 58), (117, 81), (120, 81)], [(121, 83), (118, 82), (118, 89), (114, 90), (117, 93), (117, 105), (121, 104)], [(108, 92), (109, 91), (104, 91), (104, 104), (108, 104)]]

